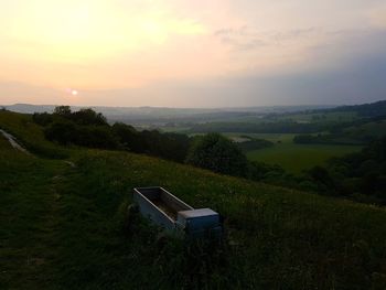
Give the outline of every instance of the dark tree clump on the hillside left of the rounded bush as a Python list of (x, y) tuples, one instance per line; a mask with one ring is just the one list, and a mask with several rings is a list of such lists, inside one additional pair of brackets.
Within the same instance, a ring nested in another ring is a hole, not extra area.
[(49, 140), (60, 144), (129, 150), (180, 162), (184, 161), (191, 142), (185, 135), (138, 131), (120, 122), (110, 126), (93, 109), (72, 111), (68, 106), (61, 106), (53, 114), (34, 114), (33, 120), (44, 126)]

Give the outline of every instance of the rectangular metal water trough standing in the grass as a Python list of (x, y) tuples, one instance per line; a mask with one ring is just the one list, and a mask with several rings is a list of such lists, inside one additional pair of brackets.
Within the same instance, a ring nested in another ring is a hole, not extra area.
[(140, 213), (168, 230), (185, 232), (190, 237), (221, 237), (218, 213), (194, 210), (162, 187), (133, 189), (133, 201)]

